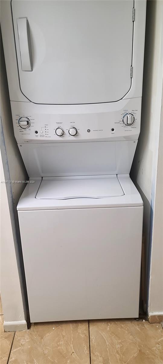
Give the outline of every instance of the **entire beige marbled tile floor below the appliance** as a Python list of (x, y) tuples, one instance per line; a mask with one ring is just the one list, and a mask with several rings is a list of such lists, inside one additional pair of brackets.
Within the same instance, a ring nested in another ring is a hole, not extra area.
[(1, 364), (163, 364), (163, 328), (135, 320), (32, 324), (3, 331)]

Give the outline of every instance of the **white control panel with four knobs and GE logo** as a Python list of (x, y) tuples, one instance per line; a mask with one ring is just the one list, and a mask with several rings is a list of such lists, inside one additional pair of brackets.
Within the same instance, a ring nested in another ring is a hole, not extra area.
[(134, 140), (140, 132), (141, 98), (94, 105), (11, 106), (18, 143)]

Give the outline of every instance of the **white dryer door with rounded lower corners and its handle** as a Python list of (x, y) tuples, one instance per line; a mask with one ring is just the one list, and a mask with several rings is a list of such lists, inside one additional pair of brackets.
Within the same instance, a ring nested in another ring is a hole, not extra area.
[(20, 87), (39, 104), (114, 102), (131, 87), (134, 1), (12, 0)]

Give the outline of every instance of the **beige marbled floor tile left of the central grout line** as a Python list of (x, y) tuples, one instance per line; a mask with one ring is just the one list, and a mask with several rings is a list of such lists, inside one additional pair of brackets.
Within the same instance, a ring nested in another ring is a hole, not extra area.
[(9, 364), (89, 364), (88, 322), (32, 324), (16, 332)]

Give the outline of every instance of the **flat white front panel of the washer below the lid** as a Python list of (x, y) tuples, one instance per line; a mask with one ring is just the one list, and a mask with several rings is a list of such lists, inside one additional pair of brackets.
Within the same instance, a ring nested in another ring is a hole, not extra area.
[(18, 211), (31, 322), (138, 317), (143, 207)]

